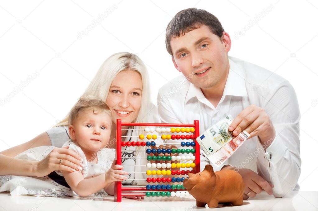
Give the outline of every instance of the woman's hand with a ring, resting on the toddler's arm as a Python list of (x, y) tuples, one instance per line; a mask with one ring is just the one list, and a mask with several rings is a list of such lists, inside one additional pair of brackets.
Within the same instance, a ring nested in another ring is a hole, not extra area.
[[(60, 159), (62, 163), (60, 164)], [(65, 148), (54, 148), (44, 159), (36, 163), (35, 176), (42, 177), (55, 170), (73, 172), (83, 167), (83, 159), (74, 150)]]

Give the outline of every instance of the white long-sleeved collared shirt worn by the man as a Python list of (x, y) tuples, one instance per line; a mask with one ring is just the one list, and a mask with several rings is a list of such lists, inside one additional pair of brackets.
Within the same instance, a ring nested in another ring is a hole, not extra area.
[[(183, 75), (162, 86), (157, 100), (161, 121), (188, 124), (199, 120), (202, 133), (228, 114), (235, 118), (249, 105), (264, 108), (276, 130), (273, 143), (265, 151), (257, 136), (248, 139), (225, 164), (257, 172), (274, 184), (276, 197), (298, 190), (301, 115), (294, 88), (286, 79), (257, 65), (230, 56), (229, 64), (223, 96), (216, 107)], [(202, 151), (201, 155), (203, 169), (210, 161)], [(222, 166), (213, 168), (217, 171)]]

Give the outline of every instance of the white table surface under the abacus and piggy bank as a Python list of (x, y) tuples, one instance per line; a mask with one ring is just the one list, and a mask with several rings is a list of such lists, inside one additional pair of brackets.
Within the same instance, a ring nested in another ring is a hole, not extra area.
[[(197, 207), (192, 196), (187, 197), (145, 197), (143, 200), (123, 199), (114, 202), (113, 196), (104, 198), (95, 197), (36, 197), (36, 196), (10, 196), (10, 193), (0, 193), (0, 211), (32, 210), (32, 211), (62, 211), (62, 210), (149, 210), (149, 211), (193, 211), (206, 210), (208, 207)], [(244, 200), (242, 206), (223, 206), (219, 204), (214, 210), (277, 210), (277, 211), (308, 211), (318, 210), (318, 192), (291, 191), (283, 198), (274, 198), (266, 192), (260, 193), (256, 198)]]

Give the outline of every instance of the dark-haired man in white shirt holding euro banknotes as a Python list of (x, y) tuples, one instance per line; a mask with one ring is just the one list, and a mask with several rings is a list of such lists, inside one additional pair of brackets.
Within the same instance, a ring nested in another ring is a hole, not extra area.
[[(162, 122), (198, 119), (203, 132), (231, 114), (235, 118), (229, 131), (238, 135), (246, 130), (251, 137), (227, 165), (214, 169), (237, 170), (244, 180), (245, 199), (262, 189), (276, 197), (298, 190), (301, 115), (290, 83), (264, 68), (229, 57), (230, 36), (205, 10), (189, 8), (177, 13), (166, 29), (166, 47), (183, 75), (159, 90)], [(201, 160), (204, 168), (209, 160), (203, 156)]]

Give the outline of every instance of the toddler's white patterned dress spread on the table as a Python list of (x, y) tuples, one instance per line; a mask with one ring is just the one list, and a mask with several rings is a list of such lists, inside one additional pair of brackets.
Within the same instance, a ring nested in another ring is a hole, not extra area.
[[(67, 141), (62, 147), (69, 145), (72, 149), (79, 153), (83, 159), (83, 169), (81, 173), (84, 178), (92, 178), (100, 174), (106, 173), (115, 159), (115, 149), (103, 148), (97, 153), (97, 163), (90, 163), (87, 161), (84, 152), (81, 148), (74, 144), (72, 140)], [(45, 158), (54, 148), (54, 146), (40, 146), (31, 148), (17, 155), (16, 158), (23, 160), (40, 161)], [(62, 172), (57, 170), (55, 172), (57, 177), (63, 176)], [(58, 176), (59, 175), (59, 176)], [(50, 175), (49, 175), (50, 176)], [(35, 195), (35, 196), (54, 196), (54, 197), (68, 197), (79, 196), (72, 189), (55, 182), (49, 176), (36, 177), (36, 176), (13, 176), (5, 175), (0, 176), (0, 192), (9, 191), (11, 195)], [(52, 177), (52, 176), (51, 176)], [(53, 178), (53, 177), (52, 177)], [(63, 177), (62, 177), (63, 178)], [(65, 182), (65, 181), (64, 181)], [(93, 185), (93, 184), (92, 184)], [(106, 196), (107, 193), (104, 189), (90, 195), (90, 196)]]

